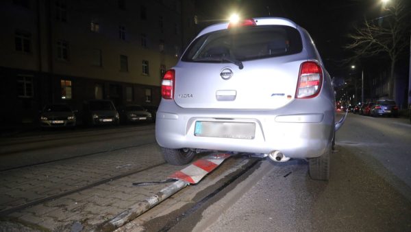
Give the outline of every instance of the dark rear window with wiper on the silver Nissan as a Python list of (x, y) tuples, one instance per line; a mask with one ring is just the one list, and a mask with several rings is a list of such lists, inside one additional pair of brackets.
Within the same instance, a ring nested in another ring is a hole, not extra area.
[(183, 61), (227, 62), (255, 60), (297, 54), (302, 50), (301, 36), (292, 27), (269, 25), (242, 27), (210, 32), (197, 38), (188, 47)]

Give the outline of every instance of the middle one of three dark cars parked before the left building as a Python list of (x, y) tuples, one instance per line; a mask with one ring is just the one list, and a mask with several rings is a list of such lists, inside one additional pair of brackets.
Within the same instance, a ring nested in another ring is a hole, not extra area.
[(88, 100), (84, 102), (83, 121), (90, 126), (119, 125), (119, 113), (111, 100)]

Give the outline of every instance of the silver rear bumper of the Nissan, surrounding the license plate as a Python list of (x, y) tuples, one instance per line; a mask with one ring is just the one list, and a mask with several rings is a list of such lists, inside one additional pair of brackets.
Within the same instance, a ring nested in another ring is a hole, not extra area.
[[(168, 104), (157, 113), (155, 137), (164, 148), (262, 154), (278, 150), (290, 158), (306, 159), (321, 156), (330, 146), (334, 136), (334, 118), (334, 107), (317, 113), (298, 113), (284, 108), (265, 111), (194, 110)], [(200, 137), (195, 135), (196, 121), (255, 124), (255, 134), (249, 139)]]

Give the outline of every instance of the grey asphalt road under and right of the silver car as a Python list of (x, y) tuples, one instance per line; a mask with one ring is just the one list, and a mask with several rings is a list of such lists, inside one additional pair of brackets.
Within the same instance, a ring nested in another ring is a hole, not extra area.
[(411, 231), (408, 120), (349, 114), (331, 157), (328, 182), (312, 181), (306, 161), (263, 163), (192, 230)]

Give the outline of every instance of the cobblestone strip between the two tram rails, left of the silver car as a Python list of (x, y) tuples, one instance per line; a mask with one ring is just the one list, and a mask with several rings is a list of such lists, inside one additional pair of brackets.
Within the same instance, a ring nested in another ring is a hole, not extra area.
[(161, 163), (158, 146), (151, 144), (6, 171), (0, 178), (0, 212)]

